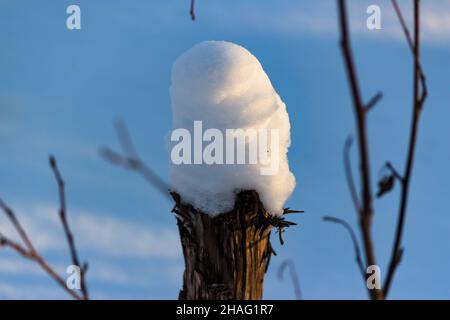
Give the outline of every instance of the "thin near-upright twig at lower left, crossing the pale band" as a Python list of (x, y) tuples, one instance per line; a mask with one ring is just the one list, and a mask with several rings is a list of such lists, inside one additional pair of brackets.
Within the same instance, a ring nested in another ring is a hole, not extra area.
[(56, 163), (56, 160), (53, 156), (50, 156), (49, 158), (50, 167), (52, 168), (53, 174), (55, 175), (56, 182), (58, 184), (58, 192), (59, 192), (59, 218), (61, 220), (61, 224), (64, 229), (64, 234), (66, 235), (67, 243), (69, 245), (70, 250), (70, 256), (72, 259), (72, 263), (80, 268), (80, 285), (81, 285), (81, 293), (83, 295), (83, 298), (85, 300), (89, 299), (89, 293), (86, 286), (86, 266), (87, 264), (84, 264), (83, 266), (80, 264), (80, 259), (78, 258), (77, 249), (75, 246), (75, 241), (72, 235), (72, 232), (70, 230), (69, 224), (67, 222), (67, 210), (66, 210), (66, 196), (64, 191), (64, 180), (61, 176), (61, 173), (58, 169), (58, 165)]

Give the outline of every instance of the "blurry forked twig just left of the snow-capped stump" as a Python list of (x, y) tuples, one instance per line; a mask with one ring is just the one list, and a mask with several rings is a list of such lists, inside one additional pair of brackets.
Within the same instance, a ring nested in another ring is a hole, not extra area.
[(100, 156), (107, 162), (116, 166), (121, 166), (125, 169), (132, 170), (141, 175), (149, 184), (156, 188), (169, 201), (170, 197), (169, 185), (147, 166), (140, 158), (136, 149), (134, 148), (131, 136), (123, 121), (116, 122), (116, 132), (121, 144), (123, 154), (113, 151), (107, 147), (100, 149)]

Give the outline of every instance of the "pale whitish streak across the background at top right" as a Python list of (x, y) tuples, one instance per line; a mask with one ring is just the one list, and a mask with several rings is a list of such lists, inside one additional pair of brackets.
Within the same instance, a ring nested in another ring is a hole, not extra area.
[[(382, 30), (370, 31), (366, 27), (366, 9), (371, 4), (381, 8)], [(412, 21), (411, 4), (400, 1), (405, 20)], [(450, 44), (450, 3), (422, 2), (422, 39), (425, 44)], [(363, 0), (349, 2), (349, 21), (352, 33), (358, 37), (404, 41), (403, 31), (389, 0)], [(215, 27), (234, 28), (236, 32), (254, 32), (281, 36), (317, 35), (336, 37), (338, 21), (334, 1), (308, 1), (267, 5), (222, 3), (205, 4), (201, 16)], [(200, 19), (200, 18), (199, 18)]]

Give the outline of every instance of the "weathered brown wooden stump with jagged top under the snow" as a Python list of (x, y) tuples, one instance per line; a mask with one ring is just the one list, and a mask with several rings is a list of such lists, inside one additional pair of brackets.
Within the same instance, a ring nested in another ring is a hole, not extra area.
[(180, 300), (257, 300), (273, 253), (266, 211), (255, 191), (210, 216), (172, 193), (185, 271)]

